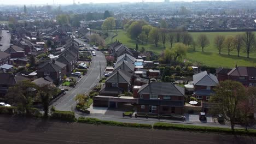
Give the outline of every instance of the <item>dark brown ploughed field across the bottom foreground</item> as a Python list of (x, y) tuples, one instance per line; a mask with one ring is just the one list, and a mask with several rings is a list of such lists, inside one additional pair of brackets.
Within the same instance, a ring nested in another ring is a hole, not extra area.
[(0, 143), (256, 143), (256, 137), (42, 122), (0, 116)]

